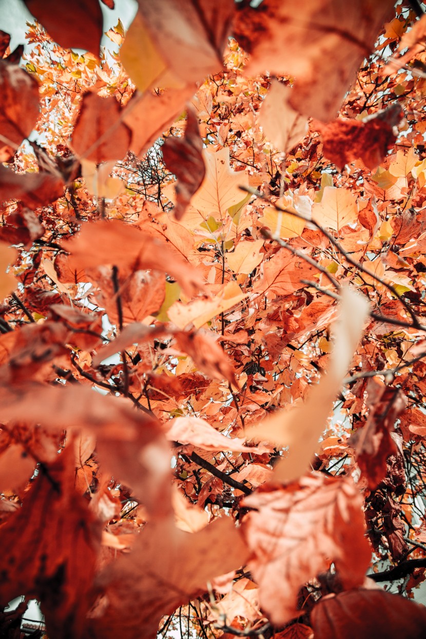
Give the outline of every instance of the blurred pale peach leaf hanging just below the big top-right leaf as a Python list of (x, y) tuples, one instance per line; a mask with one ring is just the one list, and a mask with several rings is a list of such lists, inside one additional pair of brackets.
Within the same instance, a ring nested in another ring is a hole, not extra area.
[(272, 79), (259, 112), (259, 124), (278, 151), (288, 153), (308, 132), (308, 119), (289, 104), (291, 88)]

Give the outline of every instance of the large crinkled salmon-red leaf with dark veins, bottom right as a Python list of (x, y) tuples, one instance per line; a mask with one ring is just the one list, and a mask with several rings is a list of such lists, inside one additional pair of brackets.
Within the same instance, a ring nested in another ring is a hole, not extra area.
[(363, 537), (363, 500), (347, 477), (305, 476), (286, 487), (244, 499), (254, 508), (243, 521), (249, 562), (260, 601), (273, 624), (298, 614), (296, 597), (306, 581), (335, 562), (346, 587), (363, 583), (370, 548)]

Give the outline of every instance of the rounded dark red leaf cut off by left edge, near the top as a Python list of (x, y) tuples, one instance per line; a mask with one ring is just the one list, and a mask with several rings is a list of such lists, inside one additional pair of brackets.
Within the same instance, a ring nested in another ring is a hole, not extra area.
[(17, 65), (0, 60), (0, 162), (10, 160), (22, 141), (28, 137), (40, 110), (38, 84)]

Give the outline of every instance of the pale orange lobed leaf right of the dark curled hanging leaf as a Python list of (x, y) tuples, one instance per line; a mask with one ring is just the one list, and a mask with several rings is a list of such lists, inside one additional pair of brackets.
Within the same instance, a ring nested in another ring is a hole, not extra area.
[(202, 153), (206, 175), (190, 205), (203, 215), (223, 220), (227, 209), (241, 202), (240, 186), (248, 187), (247, 174), (244, 171), (231, 171), (229, 148), (220, 149), (216, 153), (204, 150)]

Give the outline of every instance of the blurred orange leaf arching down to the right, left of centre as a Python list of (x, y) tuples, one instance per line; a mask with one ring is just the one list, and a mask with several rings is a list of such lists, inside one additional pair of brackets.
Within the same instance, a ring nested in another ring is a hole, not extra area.
[(84, 224), (80, 233), (66, 243), (66, 250), (72, 254), (68, 262), (70, 273), (82, 267), (114, 264), (119, 272), (167, 271), (190, 297), (204, 289), (201, 275), (188, 261), (169, 256), (167, 246), (118, 220)]

